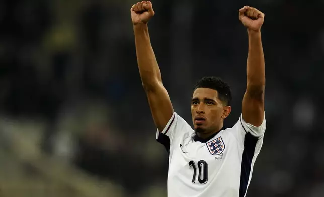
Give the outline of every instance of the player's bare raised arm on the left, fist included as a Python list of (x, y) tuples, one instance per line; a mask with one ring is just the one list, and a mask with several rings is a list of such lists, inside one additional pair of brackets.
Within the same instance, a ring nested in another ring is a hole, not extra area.
[(167, 90), (162, 84), (161, 73), (151, 46), (147, 22), (154, 16), (152, 3), (142, 1), (131, 8), (134, 25), (138, 69), (145, 89), (154, 123), (159, 131), (167, 125), (173, 107)]

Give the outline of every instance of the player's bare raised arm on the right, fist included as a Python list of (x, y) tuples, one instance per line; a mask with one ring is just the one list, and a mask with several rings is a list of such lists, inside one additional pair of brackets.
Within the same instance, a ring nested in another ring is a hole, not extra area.
[(239, 20), (248, 30), (247, 89), (242, 102), (242, 117), (246, 123), (260, 126), (264, 119), (265, 61), (261, 42), (264, 14), (245, 6), (239, 10)]

